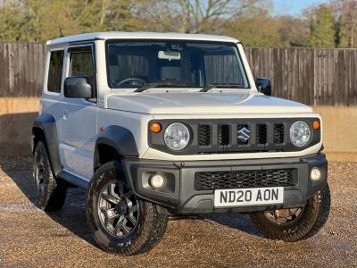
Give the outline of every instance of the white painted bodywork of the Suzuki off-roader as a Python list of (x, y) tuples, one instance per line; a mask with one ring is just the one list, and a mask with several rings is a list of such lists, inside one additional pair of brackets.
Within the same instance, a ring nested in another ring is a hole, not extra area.
[[(200, 88), (152, 88), (145, 92), (134, 93), (133, 88), (114, 89), (108, 87), (105, 63), (105, 40), (123, 39), (181, 39), (233, 42), (237, 39), (210, 35), (187, 35), (175, 33), (91, 33), (47, 42), (49, 49), (66, 49), (71, 42), (90, 41), (95, 43), (96, 84), (98, 101), (96, 104), (85, 100), (69, 100), (61, 94), (46, 91), (46, 78), (41, 105), (42, 113), (51, 113), (57, 122), (60, 137), (60, 155), (64, 169), (80, 178), (89, 180), (93, 172), (95, 139), (99, 128), (118, 125), (130, 130), (137, 143), (139, 158), (190, 161), (190, 160), (228, 160), (257, 159), (272, 157), (292, 157), (317, 153), (320, 144), (299, 152), (288, 153), (243, 153), (219, 155), (170, 155), (149, 148), (147, 126), (151, 120), (162, 119), (231, 119), (231, 118), (297, 118), (319, 117), (310, 107), (279, 99), (263, 96), (255, 88), (252, 72), (247, 63), (243, 47), (237, 44), (245, 65), (249, 89), (212, 89), (199, 93)], [(68, 54), (63, 67), (62, 83), (68, 75)], [(46, 73), (48, 69), (46, 62)], [(169, 92), (166, 92), (166, 91)], [(65, 109), (69, 116), (63, 119)], [(71, 118), (71, 120), (69, 120)], [(322, 126), (321, 126), (322, 129)]]

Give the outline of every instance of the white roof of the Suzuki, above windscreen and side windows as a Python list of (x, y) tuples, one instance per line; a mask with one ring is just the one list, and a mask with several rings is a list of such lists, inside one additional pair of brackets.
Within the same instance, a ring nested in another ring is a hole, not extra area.
[(177, 39), (177, 40), (203, 40), (203, 41), (220, 41), (220, 42), (239, 42), (236, 38), (229, 38), (224, 36), (213, 36), (203, 34), (182, 34), (182, 33), (157, 33), (157, 32), (122, 32), (122, 31), (108, 31), (108, 32), (94, 32), (79, 34), (64, 38), (56, 38), (47, 41), (47, 46), (58, 45), (63, 43), (89, 41), (89, 40), (107, 40), (107, 39)]

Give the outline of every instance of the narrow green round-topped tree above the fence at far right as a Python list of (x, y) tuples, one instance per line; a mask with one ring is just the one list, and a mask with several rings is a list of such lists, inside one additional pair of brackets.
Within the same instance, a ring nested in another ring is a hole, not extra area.
[(335, 47), (335, 19), (331, 7), (320, 5), (310, 22), (310, 46)]

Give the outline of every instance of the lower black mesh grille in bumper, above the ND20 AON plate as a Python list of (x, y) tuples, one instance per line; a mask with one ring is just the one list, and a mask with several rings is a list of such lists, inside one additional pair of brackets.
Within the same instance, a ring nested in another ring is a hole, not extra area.
[(195, 189), (285, 187), (294, 185), (293, 170), (196, 172)]

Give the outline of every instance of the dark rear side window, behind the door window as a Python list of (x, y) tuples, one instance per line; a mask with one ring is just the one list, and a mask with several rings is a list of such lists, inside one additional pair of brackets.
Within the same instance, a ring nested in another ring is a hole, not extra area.
[(63, 55), (63, 50), (51, 52), (47, 78), (47, 90), (50, 92), (61, 92)]

